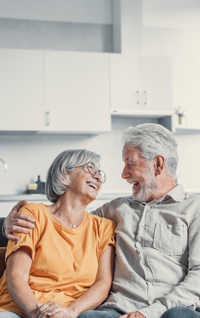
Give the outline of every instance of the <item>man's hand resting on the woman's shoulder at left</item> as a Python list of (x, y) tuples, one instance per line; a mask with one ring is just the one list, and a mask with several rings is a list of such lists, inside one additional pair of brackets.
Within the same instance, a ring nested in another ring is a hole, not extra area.
[(4, 223), (4, 232), (9, 240), (18, 241), (19, 237), (13, 235), (13, 232), (17, 233), (29, 233), (30, 229), (34, 229), (35, 219), (29, 215), (18, 212), (19, 209), (27, 204), (27, 200), (19, 201), (7, 216)]

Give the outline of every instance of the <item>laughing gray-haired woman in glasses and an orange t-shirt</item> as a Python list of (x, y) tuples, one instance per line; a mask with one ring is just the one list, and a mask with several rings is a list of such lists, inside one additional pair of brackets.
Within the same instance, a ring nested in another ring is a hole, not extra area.
[(8, 243), (0, 317), (76, 318), (107, 298), (116, 224), (85, 210), (106, 180), (100, 160), (85, 149), (63, 151), (47, 173), (53, 204), (21, 208), (35, 218), (35, 230)]

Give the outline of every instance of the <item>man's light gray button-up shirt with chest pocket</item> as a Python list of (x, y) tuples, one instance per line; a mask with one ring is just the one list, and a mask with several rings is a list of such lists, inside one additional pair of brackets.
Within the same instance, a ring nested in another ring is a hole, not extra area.
[(100, 308), (159, 318), (200, 307), (200, 196), (179, 184), (158, 201), (118, 198), (92, 213), (117, 223), (115, 273)]

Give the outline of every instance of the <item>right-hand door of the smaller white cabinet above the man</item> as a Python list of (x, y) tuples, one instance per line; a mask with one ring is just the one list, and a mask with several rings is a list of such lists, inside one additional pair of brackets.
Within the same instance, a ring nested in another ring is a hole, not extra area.
[(172, 110), (171, 65), (170, 57), (141, 57), (141, 108)]

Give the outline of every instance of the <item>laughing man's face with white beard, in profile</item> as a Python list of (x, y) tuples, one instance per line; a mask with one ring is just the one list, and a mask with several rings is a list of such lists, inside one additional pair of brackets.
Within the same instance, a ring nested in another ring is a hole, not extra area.
[(141, 155), (139, 149), (124, 147), (123, 152), (124, 169), (122, 178), (132, 184), (132, 197), (139, 202), (150, 202), (154, 200), (159, 185), (156, 180), (154, 160), (147, 162)]

